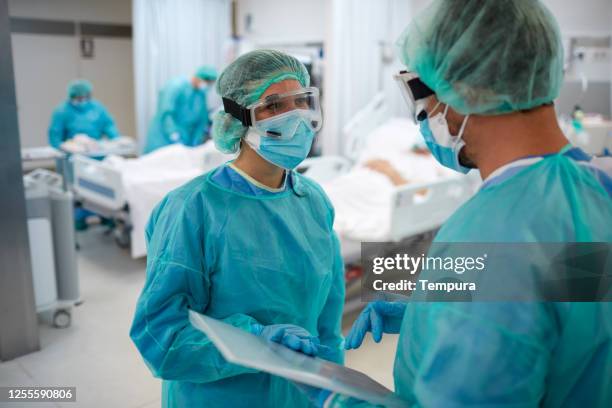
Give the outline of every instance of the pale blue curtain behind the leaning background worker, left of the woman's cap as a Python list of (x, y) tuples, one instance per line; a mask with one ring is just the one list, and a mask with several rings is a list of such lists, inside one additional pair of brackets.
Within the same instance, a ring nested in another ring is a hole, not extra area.
[(134, 0), (136, 127), (144, 145), (157, 93), (171, 78), (191, 76), (198, 66), (221, 68), (230, 37), (229, 0)]

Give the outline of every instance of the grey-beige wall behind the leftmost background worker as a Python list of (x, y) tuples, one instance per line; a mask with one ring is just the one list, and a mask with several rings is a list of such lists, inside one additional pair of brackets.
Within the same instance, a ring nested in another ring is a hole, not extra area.
[[(52, 4), (50, 4), (52, 3)], [(131, 25), (129, 0), (10, 0), (11, 17), (64, 22)], [(66, 99), (66, 85), (82, 77), (94, 98), (115, 118), (119, 131), (135, 134), (132, 40), (94, 37), (94, 57), (82, 58), (73, 35), (11, 35), (22, 147), (47, 145), (49, 119)]]

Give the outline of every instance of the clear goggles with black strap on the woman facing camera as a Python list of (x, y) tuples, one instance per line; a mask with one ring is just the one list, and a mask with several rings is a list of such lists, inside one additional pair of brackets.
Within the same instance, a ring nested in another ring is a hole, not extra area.
[[(300, 110), (306, 122), (315, 132), (321, 129), (323, 122), (319, 90), (317, 88), (302, 88), (282, 94), (266, 96), (247, 107), (235, 101), (223, 98), (223, 109), (226, 113), (238, 119), (244, 126), (253, 127), (267, 136), (280, 136), (271, 132), (266, 125), (270, 119), (277, 118), (287, 112)], [(261, 125), (261, 126), (260, 126)]]

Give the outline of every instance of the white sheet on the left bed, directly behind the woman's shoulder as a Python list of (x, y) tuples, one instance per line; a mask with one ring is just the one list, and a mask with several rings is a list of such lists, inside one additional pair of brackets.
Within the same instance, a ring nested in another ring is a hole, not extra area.
[(105, 159), (121, 171), (130, 206), (133, 258), (146, 255), (145, 227), (151, 212), (166, 194), (231, 158), (217, 151), (209, 141), (198, 147), (174, 144), (137, 159), (118, 156)]

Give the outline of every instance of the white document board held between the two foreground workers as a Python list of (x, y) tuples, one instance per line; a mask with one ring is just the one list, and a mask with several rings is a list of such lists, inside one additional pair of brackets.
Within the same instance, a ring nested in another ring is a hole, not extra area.
[[(189, 312), (189, 320), (208, 336), (230, 363), (385, 407), (408, 405), (392, 391), (359, 371), (297, 353), (194, 311)], [(296, 392), (299, 391), (296, 389)]]

